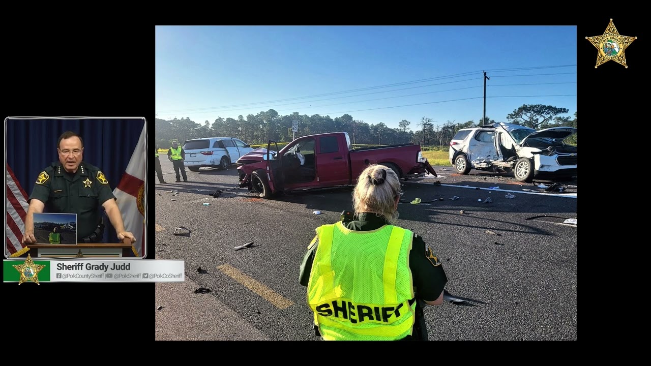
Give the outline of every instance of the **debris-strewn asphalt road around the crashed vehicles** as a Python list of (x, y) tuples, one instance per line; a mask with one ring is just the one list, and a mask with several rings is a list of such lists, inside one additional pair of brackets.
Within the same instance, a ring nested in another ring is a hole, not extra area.
[[(174, 183), (172, 164), (161, 164), (168, 184), (156, 184), (156, 258), (185, 260), (186, 282), (156, 284), (156, 339), (318, 340), (299, 266), (314, 229), (350, 209), (351, 190), (213, 198), (206, 193), (235, 187), (234, 166), (187, 171), (189, 182)], [(434, 249), (451, 294), (486, 304), (426, 307), (430, 340), (576, 340), (577, 229), (564, 223), (577, 218), (576, 182), (544, 193), (512, 174), (435, 169), (439, 177), (404, 182), (404, 200), (423, 203), (400, 204), (398, 225)], [(180, 226), (189, 235), (174, 236)], [(199, 287), (212, 292), (195, 294)]]

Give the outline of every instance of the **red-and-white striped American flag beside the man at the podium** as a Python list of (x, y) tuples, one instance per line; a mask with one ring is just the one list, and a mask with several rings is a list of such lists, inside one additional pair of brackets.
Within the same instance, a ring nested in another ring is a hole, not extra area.
[(7, 255), (12, 255), (25, 249), (21, 244), (25, 232), (25, 216), (27, 216), (27, 193), (20, 186), (14, 172), (7, 164)]

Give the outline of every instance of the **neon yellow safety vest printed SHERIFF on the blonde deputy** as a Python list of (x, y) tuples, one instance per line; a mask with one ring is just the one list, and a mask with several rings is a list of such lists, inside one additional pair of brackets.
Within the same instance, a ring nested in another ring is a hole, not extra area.
[(316, 233), (307, 305), (323, 339), (391, 341), (411, 335), (413, 232), (393, 225), (352, 231), (339, 221)]

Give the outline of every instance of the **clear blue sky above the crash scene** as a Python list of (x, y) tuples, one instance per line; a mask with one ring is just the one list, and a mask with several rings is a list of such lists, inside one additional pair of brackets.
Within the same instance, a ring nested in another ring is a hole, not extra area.
[(159, 26), (156, 113), (201, 124), (268, 109), (348, 113), (419, 130), (422, 117), (478, 122), (486, 70), (490, 119), (523, 104), (573, 117), (576, 42), (574, 26)]

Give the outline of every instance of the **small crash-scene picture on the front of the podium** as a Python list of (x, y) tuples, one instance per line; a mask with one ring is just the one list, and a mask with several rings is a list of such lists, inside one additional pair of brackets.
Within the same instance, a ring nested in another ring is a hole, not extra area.
[(76, 214), (34, 214), (36, 244), (77, 244)]

